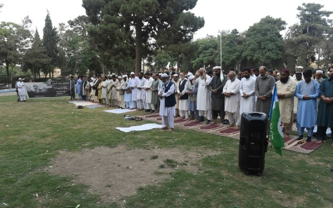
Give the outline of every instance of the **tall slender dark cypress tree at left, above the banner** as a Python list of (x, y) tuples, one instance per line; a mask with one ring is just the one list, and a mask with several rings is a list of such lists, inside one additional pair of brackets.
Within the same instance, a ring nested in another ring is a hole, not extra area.
[(53, 71), (55, 66), (57, 65), (57, 58), (58, 58), (58, 43), (59, 37), (57, 34), (56, 28), (52, 25), (52, 20), (50, 17), (50, 12), (47, 11), (45, 17), (45, 26), (43, 28), (43, 46), (46, 48), (46, 54), (50, 57), (51, 62), (50, 64), (44, 65), (43, 72), (45, 73), (45, 77), (47, 73), (49, 76), (53, 77)]

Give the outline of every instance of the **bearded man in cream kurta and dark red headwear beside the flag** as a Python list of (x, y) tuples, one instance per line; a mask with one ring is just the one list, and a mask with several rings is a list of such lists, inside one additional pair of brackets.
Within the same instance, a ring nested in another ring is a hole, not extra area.
[[(294, 94), (296, 91), (296, 83), (292, 78), (289, 77), (289, 74), (289, 69), (281, 69), (280, 80), (276, 82), (281, 122), (284, 128), (284, 135), (286, 137), (288, 137), (292, 131), (294, 115)], [(272, 92), (274, 92), (274, 88)]]

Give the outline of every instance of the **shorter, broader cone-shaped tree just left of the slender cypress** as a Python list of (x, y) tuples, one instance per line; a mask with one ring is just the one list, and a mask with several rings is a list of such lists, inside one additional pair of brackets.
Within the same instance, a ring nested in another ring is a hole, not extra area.
[(36, 29), (32, 46), (27, 50), (23, 60), (23, 69), (26, 69), (26, 71), (30, 69), (33, 80), (35, 80), (36, 75), (39, 77), (41, 67), (49, 64), (50, 62), (51, 58), (46, 55), (46, 49), (42, 45), (38, 30)]

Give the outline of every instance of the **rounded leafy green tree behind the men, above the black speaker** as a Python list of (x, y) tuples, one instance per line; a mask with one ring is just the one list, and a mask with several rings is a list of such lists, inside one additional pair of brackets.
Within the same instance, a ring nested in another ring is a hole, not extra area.
[(274, 68), (273, 63), (283, 58), (283, 39), (280, 32), (286, 29), (285, 26), (286, 22), (281, 18), (270, 16), (254, 23), (245, 32), (243, 56), (255, 65)]

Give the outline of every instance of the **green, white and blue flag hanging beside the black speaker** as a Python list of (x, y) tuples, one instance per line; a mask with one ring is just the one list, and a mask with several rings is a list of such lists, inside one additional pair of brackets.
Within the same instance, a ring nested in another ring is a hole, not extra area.
[(274, 86), (272, 104), (271, 104), (271, 111), (269, 118), (271, 120), (270, 125), (270, 140), (275, 149), (275, 152), (282, 156), (281, 148), (284, 147), (284, 139), (282, 133), (282, 126), (281, 126), (281, 116), (280, 116), (280, 108), (279, 102), (277, 99), (277, 89), (276, 84)]

